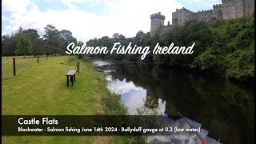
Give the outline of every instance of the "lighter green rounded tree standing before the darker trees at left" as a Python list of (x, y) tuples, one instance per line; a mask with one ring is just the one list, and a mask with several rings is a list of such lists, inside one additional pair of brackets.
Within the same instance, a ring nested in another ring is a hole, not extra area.
[(15, 54), (25, 54), (24, 58), (26, 58), (26, 54), (32, 52), (32, 42), (29, 35), (18, 33), (14, 40), (16, 43)]

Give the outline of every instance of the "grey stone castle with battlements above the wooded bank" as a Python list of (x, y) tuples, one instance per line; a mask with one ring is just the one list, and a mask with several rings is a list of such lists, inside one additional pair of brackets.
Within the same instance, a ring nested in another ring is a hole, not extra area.
[(190, 20), (198, 20), (209, 22), (212, 18), (218, 19), (234, 19), (234, 18), (250, 18), (254, 14), (254, 0), (222, 0), (222, 4), (214, 5), (213, 10), (202, 10), (192, 12), (186, 8), (176, 9), (172, 13), (172, 24), (168, 22), (164, 26), (166, 17), (160, 12), (151, 14), (150, 37), (162, 35), (166, 33), (172, 26), (182, 26)]

